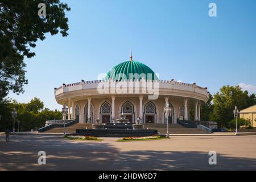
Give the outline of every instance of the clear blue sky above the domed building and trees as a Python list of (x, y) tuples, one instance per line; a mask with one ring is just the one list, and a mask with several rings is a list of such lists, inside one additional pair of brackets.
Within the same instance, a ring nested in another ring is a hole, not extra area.
[[(71, 7), (69, 36), (48, 35), (37, 43), (36, 56), (25, 60), (26, 92), (9, 97), (39, 97), (46, 107), (60, 109), (53, 88), (96, 80), (129, 60), (131, 50), (161, 80), (196, 82), (212, 94), (228, 84), (256, 92), (255, 0), (64, 2)], [(211, 2), (217, 17), (208, 15)]]

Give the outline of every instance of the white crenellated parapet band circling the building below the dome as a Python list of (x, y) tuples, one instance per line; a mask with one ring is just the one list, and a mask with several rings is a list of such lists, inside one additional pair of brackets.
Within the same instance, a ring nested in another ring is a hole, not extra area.
[(93, 80), (75, 82), (73, 84), (63, 84), (55, 88), (55, 97), (69, 96), (96, 96), (100, 94), (154, 94), (183, 96), (183, 94), (195, 95), (197, 99), (206, 102), (209, 97), (208, 89), (196, 85), (172, 80), (121, 80), (116, 81), (111, 78), (107, 81)]

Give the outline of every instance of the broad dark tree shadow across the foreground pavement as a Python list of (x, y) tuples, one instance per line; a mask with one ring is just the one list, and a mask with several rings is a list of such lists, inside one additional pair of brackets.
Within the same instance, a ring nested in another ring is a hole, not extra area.
[[(186, 151), (120, 151), (110, 143), (73, 142), (61, 137), (0, 137), (1, 170), (255, 170), (256, 159), (217, 154), (209, 165), (208, 153)], [(46, 165), (38, 164), (38, 151), (46, 151)]]

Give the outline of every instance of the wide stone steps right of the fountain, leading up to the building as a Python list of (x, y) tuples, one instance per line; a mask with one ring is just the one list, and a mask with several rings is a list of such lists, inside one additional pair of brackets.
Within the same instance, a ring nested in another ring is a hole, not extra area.
[[(167, 132), (167, 124), (145, 124), (145, 128), (158, 130), (158, 133)], [(170, 134), (207, 134), (206, 131), (197, 128), (187, 128), (179, 124), (169, 124)]]

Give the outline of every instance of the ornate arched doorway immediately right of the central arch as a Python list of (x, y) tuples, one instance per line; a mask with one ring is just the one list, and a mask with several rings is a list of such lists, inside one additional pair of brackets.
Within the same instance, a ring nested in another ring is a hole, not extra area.
[(149, 101), (144, 105), (144, 123), (157, 123), (156, 106)]

